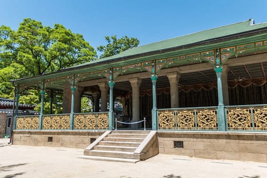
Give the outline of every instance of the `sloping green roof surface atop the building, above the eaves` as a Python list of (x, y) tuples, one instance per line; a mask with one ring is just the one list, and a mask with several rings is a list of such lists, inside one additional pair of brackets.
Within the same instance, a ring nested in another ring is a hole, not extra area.
[(253, 19), (249, 19), (249, 21), (244, 21), (236, 24), (226, 25), (218, 28), (213, 28), (209, 30), (204, 30), (192, 34), (187, 34), (184, 36), (179, 36), (175, 38), (166, 39), (164, 41), (151, 43), (148, 45), (143, 45), (135, 48), (128, 49), (123, 51), (117, 55), (113, 55), (110, 57), (102, 58), (101, 60), (92, 61), (89, 63), (81, 64), (74, 67), (91, 65), (99, 62), (115, 60), (116, 58), (123, 58), (127, 56), (137, 55), (148, 53), (152, 51), (158, 51), (163, 49), (175, 48), (179, 46), (185, 46), (190, 44), (195, 44), (198, 42), (208, 41), (209, 39), (220, 38), (223, 36), (230, 36), (238, 33), (244, 33), (256, 29), (261, 29), (267, 27), (267, 23), (254, 24)]

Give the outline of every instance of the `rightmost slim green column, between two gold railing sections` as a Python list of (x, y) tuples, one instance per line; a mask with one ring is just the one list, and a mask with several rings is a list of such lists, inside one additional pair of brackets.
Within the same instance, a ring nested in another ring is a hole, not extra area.
[(217, 75), (217, 85), (218, 85), (218, 129), (220, 131), (225, 131), (225, 118), (224, 118), (224, 104), (223, 104), (223, 95), (222, 95), (222, 67), (216, 66), (215, 72)]

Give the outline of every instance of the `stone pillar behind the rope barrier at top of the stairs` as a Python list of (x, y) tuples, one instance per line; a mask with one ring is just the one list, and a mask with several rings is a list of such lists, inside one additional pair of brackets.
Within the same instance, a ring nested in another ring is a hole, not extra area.
[[(142, 79), (135, 77), (129, 78), (132, 91), (132, 122), (140, 121), (140, 94), (139, 87), (142, 83)], [(132, 124), (131, 128), (138, 128), (138, 124)]]

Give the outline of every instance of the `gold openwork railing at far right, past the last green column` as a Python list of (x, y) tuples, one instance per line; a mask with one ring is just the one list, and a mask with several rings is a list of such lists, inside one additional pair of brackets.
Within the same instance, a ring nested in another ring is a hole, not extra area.
[(267, 130), (267, 106), (226, 107), (227, 130)]

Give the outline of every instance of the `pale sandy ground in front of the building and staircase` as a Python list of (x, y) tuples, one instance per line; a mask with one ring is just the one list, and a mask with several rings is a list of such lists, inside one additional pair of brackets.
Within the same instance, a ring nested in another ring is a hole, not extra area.
[(146, 161), (116, 163), (78, 159), (83, 149), (8, 145), (0, 139), (0, 177), (235, 177), (266, 178), (267, 163), (208, 160), (158, 154)]

